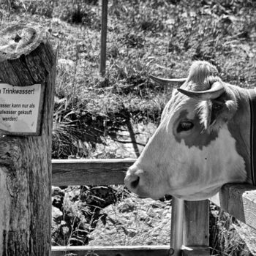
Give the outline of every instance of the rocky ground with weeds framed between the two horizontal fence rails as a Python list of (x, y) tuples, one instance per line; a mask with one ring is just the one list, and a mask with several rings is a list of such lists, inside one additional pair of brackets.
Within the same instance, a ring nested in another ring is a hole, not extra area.
[(169, 244), (170, 200), (128, 195), (118, 187), (53, 187), (52, 244)]

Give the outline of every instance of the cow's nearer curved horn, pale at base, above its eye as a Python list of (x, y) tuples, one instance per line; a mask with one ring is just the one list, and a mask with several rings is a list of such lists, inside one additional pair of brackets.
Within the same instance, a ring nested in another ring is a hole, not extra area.
[(206, 91), (187, 91), (181, 88), (177, 89), (181, 94), (185, 94), (193, 99), (207, 100), (207, 99), (217, 99), (223, 94), (225, 88), (221, 82), (215, 82), (212, 84), (211, 89)]

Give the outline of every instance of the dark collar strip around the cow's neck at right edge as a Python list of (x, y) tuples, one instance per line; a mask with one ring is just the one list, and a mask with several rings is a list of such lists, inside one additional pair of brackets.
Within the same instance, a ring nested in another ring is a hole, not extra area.
[(252, 184), (256, 186), (256, 90), (249, 89), (249, 105), (251, 113), (250, 127), (250, 153), (251, 153), (251, 176)]

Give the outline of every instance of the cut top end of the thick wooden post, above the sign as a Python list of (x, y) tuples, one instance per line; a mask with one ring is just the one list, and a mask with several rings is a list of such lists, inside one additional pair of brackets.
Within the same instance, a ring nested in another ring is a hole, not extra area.
[(0, 80), (12, 86), (42, 84), (55, 65), (48, 34), (36, 23), (10, 23), (0, 31)]

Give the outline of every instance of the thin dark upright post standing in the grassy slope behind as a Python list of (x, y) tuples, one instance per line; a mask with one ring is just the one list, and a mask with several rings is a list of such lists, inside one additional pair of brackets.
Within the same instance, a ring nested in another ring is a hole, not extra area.
[(108, 25), (108, 0), (102, 0), (102, 34), (100, 39), (100, 67), (99, 74), (104, 76), (106, 72), (107, 53), (107, 26)]

